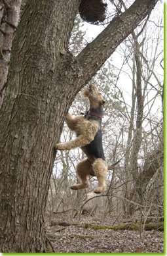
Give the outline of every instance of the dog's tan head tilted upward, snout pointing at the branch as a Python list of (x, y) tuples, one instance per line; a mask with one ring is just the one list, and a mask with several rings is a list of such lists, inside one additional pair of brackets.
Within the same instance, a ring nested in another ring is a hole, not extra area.
[(85, 88), (81, 91), (82, 97), (88, 97), (90, 101), (90, 107), (96, 108), (102, 105), (105, 107), (105, 101), (103, 99), (102, 93), (98, 91), (94, 84), (90, 84), (89, 88)]

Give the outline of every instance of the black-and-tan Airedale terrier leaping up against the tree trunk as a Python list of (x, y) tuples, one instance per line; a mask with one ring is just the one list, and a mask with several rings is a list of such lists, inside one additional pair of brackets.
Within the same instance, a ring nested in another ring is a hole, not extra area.
[(105, 101), (102, 94), (94, 84), (81, 91), (83, 97), (88, 97), (90, 101), (90, 110), (84, 116), (73, 118), (69, 113), (65, 122), (70, 130), (77, 135), (75, 140), (66, 143), (56, 144), (56, 149), (69, 150), (81, 147), (86, 154), (86, 159), (78, 163), (76, 172), (81, 184), (71, 186), (72, 190), (81, 190), (88, 188), (88, 176), (96, 176), (98, 187), (94, 189), (95, 193), (102, 193), (106, 188), (106, 172), (109, 168), (114, 168), (117, 163), (107, 167), (103, 153), (102, 145), (102, 115)]

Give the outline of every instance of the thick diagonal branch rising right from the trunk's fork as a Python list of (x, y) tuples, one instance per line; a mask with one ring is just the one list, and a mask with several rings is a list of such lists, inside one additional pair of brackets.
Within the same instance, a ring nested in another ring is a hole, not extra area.
[[(158, 0), (136, 0), (77, 55), (83, 69), (83, 80), (90, 80), (117, 46), (151, 13)], [(112, 39), (112, 40), (111, 40)]]

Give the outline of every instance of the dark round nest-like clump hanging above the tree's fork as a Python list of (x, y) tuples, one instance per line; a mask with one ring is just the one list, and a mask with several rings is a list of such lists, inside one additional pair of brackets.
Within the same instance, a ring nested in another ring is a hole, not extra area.
[(79, 5), (79, 14), (83, 20), (96, 24), (105, 20), (107, 4), (102, 0), (82, 0)]

